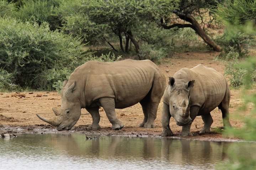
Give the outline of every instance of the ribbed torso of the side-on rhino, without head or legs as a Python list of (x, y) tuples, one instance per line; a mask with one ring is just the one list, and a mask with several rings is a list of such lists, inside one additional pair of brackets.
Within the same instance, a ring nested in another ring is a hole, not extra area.
[(155, 77), (161, 74), (149, 61), (124, 60), (113, 63), (90, 61), (74, 71), (84, 84), (86, 103), (101, 97), (115, 98), (116, 108), (141, 101), (150, 91)]

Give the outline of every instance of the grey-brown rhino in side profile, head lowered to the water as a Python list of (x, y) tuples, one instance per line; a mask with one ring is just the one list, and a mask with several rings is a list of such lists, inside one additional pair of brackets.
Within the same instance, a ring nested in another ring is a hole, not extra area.
[(70, 130), (78, 121), (81, 108), (92, 115), (89, 129), (100, 129), (99, 107), (103, 107), (112, 129), (124, 125), (117, 119), (115, 108), (130, 107), (138, 102), (142, 106), (144, 120), (139, 125), (153, 128), (156, 112), (166, 86), (164, 75), (150, 60), (123, 60), (112, 63), (89, 61), (79, 66), (63, 82), (60, 111), (56, 116), (41, 120), (57, 126), (58, 131)]

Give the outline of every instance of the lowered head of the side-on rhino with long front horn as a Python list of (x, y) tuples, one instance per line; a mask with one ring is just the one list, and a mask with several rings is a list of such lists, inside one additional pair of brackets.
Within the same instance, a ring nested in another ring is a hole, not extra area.
[(58, 131), (70, 130), (77, 123), (81, 114), (79, 95), (75, 93), (76, 82), (74, 81), (69, 87), (66, 87), (67, 83), (68, 80), (64, 80), (61, 90), (61, 108), (52, 108), (55, 116), (51, 119), (45, 119), (36, 114), (41, 120), (57, 126)]

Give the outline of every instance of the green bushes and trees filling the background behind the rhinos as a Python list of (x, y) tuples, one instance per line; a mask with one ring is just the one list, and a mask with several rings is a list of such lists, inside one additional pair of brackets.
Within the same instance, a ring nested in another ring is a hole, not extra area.
[(247, 0), (0, 0), (0, 9), (2, 90), (57, 90), (89, 60), (159, 63), (192, 50), (221, 51), (231, 85), (240, 86), (244, 71), (235, 65), (255, 40), (226, 27), (255, 24)]

